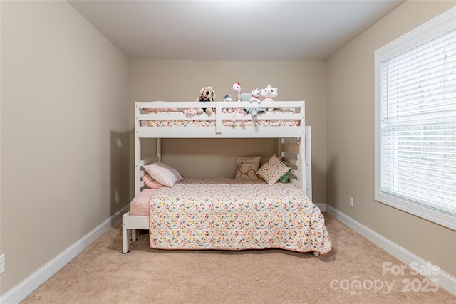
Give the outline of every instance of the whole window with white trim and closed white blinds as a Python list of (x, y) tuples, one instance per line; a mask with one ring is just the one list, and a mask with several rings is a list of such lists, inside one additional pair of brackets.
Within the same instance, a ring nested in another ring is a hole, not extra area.
[(375, 51), (375, 200), (456, 230), (456, 9)]

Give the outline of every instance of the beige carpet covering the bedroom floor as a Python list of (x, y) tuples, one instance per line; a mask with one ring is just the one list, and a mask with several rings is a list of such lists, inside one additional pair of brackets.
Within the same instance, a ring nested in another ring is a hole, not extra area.
[(403, 263), (325, 217), (333, 250), (320, 257), (276, 249), (157, 251), (147, 234), (123, 255), (119, 223), (22, 303), (456, 303), (410, 268), (383, 273), (383, 262)]

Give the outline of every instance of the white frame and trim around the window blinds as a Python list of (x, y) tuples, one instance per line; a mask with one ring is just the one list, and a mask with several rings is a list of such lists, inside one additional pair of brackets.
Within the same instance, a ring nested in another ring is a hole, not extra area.
[(400, 196), (383, 192), (380, 183), (380, 157), (381, 157), (381, 73), (382, 62), (387, 58), (391, 58), (403, 51), (418, 46), (420, 43), (430, 40), (446, 31), (456, 27), (456, 7), (445, 11), (443, 14), (423, 23), (405, 35), (396, 38), (394, 41), (378, 48), (374, 52), (375, 64), (375, 201), (393, 206), (396, 209), (403, 210), (415, 216), (420, 216), (423, 219), (440, 224), (452, 230), (456, 230), (456, 216), (447, 213), (443, 210), (433, 209), (432, 207), (417, 204), (414, 201), (405, 199)]

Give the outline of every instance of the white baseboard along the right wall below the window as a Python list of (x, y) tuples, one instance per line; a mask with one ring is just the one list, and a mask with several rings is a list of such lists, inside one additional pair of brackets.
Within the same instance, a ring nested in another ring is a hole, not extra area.
[(394, 256), (407, 266), (417, 266), (418, 270), (423, 269), (423, 266), (431, 270), (437, 269), (437, 271), (424, 271), (423, 276), (435, 280), (441, 288), (447, 290), (453, 295), (456, 295), (456, 278), (454, 276), (450, 276), (450, 274), (445, 271), (435, 268), (435, 266), (432, 266), (430, 262), (423, 260), (423, 258), (420, 258), (398, 244), (393, 243), (367, 226), (355, 221), (350, 216), (343, 214), (343, 212), (338, 209), (334, 209), (332, 206), (326, 205), (326, 213), (333, 216), (334, 219), (341, 221), (343, 224), (346, 224), (346, 226), (353, 229), (358, 234), (361, 234), (361, 236), (364, 236), (369, 241), (375, 243), (375, 245), (390, 253), (391, 256)]

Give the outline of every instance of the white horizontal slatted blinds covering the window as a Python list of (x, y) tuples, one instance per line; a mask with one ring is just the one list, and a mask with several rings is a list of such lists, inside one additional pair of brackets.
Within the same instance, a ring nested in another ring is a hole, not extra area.
[(456, 28), (380, 63), (380, 189), (456, 214)]

